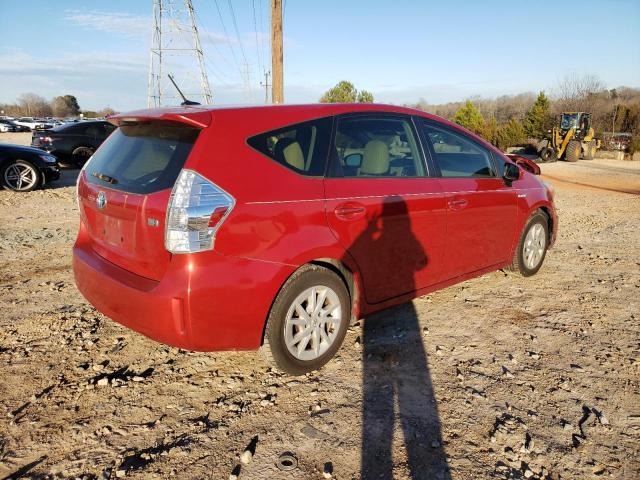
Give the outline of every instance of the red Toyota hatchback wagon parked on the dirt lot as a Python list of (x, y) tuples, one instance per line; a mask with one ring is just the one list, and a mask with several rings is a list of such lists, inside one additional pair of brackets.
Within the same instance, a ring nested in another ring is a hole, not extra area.
[(533, 275), (556, 235), (553, 193), (526, 159), (420, 111), (198, 106), (109, 121), (119, 128), (78, 179), (76, 283), (176, 347), (262, 347), (308, 372), (352, 319), (497, 269)]

